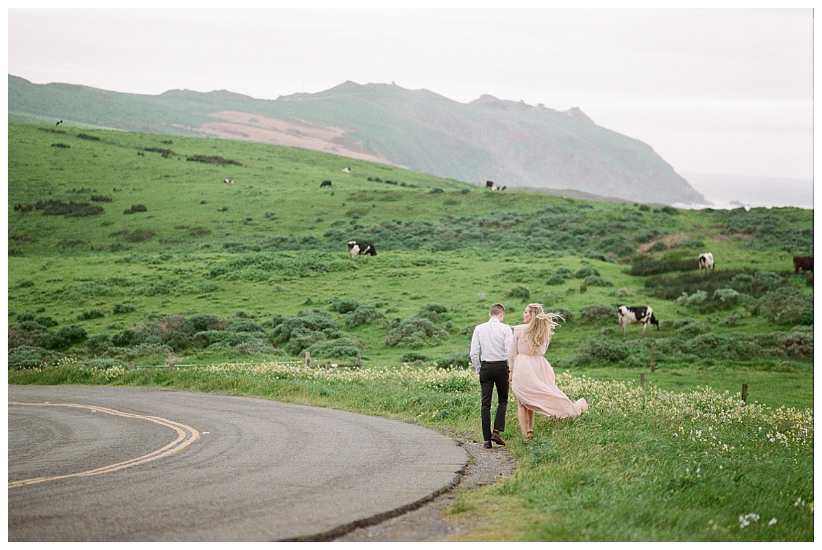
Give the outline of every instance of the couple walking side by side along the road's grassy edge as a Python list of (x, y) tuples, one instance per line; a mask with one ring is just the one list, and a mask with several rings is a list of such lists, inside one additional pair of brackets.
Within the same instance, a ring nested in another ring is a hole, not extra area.
[[(495, 303), (490, 319), (473, 330), (471, 338), (471, 362), (479, 374), (482, 387), (483, 439), (485, 448), (492, 448), (492, 441), (505, 445), (500, 432), (506, 429), (508, 388), (517, 400), (517, 416), (520, 429), (526, 439), (533, 437), (533, 414), (545, 414), (554, 418), (580, 416), (588, 409), (584, 399), (571, 401), (556, 387), (554, 369), (543, 357), (556, 322), (556, 313), (546, 313), (538, 303), (529, 303), (522, 314), (524, 324), (511, 327), (502, 319), (506, 308)], [(491, 397), (496, 386), (498, 404), (494, 429), (491, 429)]]

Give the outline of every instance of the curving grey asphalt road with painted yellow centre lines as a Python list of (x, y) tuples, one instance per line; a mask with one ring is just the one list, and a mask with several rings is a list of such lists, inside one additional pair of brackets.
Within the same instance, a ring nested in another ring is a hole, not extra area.
[[(427, 500), (469, 460), (414, 424), (269, 400), (90, 386), (8, 395), (10, 541), (319, 538)], [(49, 479), (13, 483), (38, 478)]]

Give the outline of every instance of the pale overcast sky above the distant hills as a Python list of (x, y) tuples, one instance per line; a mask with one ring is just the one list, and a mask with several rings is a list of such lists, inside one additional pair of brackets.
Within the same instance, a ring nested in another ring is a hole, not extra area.
[(579, 106), (678, 173), (813, 175), (804, 10), (10, 10), (9, 73), (275, 99), (395, 81)]

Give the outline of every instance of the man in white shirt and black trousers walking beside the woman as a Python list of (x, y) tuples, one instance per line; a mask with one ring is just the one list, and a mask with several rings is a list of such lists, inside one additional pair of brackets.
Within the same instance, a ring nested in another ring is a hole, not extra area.
[[(506, 431), (506, 409), (508, 409), (508, 351), (514, 335), (511, 327), (502, 322), (506, 308), (495, 303), (488, 314), (487, 323), (476, 326), (471, 337), (471, 363), (477, 369), (479, 385), (483, 390), (482, 408), (483, 438), (485, 448), (491, 448), (491, 441), (505, 445), (500, 432)], [(496, 385), (496, 416), (494, 431), (491, 431), (491, 397)]]

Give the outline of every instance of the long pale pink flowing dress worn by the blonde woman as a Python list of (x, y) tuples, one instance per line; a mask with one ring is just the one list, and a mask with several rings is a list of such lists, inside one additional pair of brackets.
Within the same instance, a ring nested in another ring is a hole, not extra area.
[(528, 340), (525, 339), (525, 327), (518, 325), (514, 329), (514, 342), (508, 354), (511, 369), (511, 390), (516, 400), (534, 413), (545, 414), (555, 418), (580, 416), (588, 410), (584, 399), (571, 401), (568, 396), (556, 387), (556, 375), (551, 363), (543, 357), (548, 349), (546, 342), (538, 350), (538, 355), (529, 355)]

